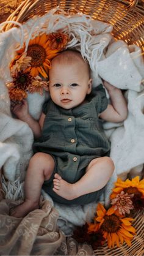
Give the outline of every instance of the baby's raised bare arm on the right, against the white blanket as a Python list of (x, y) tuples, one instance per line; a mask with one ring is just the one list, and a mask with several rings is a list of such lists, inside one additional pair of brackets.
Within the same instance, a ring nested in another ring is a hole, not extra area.
[(100, 118), (109, 122), (124, 121), (128, 115), (128, 107), (121, 90), (110, 85), (107, 81), (104, 81), (104, 86), (109, 92), (112, 105), (107, 106), (106, 110), (99, 115)]

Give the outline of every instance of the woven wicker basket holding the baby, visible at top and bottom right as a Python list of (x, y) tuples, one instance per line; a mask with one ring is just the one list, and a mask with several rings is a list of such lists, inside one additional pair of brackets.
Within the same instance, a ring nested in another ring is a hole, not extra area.
[[(24, 23), (29, 18), (42, 16), (57, 6), (66, 12), (70, 9), (71, 13), (79, 10), (95, 20), (112, 24), (115, 39), (124, 40), (129, 45), (134, 43), (144, 52), (144, 0), (24, 0), (7, 21)], [(13, 26), (15, 25), (12, 23), (5, 24), (2, 30), (7, 31)], [(130, 248), (126, 244), (117, 249), (103, 246), (95, 251), (95, 255), (144, 255), (143, 226), (144, 216), (141, 212), (135, 216), (137, 236)]]

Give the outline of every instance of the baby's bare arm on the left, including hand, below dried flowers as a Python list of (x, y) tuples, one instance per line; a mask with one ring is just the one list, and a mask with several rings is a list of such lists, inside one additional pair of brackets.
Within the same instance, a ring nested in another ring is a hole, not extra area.
[(34, 132), (35, 138), (41, 136), (41, 127), (43, 126), (43, 121), (45, 119), (45, 115), (43, 113), (40, 116), (39, 122), (32, 118), (32, 116), (29, 114), (29, 107), (26, 100), (22, 100), (20, 104), (15, 105), (15, 107), (12, 109), (12, 112), (18, 119), (27, 122), (29, 127)]

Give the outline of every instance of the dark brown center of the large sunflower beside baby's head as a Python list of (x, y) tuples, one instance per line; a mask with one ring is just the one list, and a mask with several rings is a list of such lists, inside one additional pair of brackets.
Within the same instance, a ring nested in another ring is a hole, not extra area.
[(27, 56), (32, 58), (31, 66), (40, 67), (46, 59), (46, 51), (41, 45), (29, 45), (27, 48)]

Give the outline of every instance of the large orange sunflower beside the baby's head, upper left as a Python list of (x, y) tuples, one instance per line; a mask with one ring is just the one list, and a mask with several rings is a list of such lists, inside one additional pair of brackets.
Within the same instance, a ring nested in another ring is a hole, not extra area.
[[(32, 77), (40, 73), (43, 77), (48, 77), (48, 69), (51, 67), (50, 59), (57, 55), (57, 49), (52, 50), (48, 47), (48, 36), (42, 34), (29, 41), (27, 47), (27, 56), (31, 57), (31, 67), (28, 67)], [(24, 52), (25, 47), (21, 48), (17, 53), (18, 56)], [(18, 57), (17, 57), (18, 58)], [(19, 57), (20, 58), (20, 57)]]

